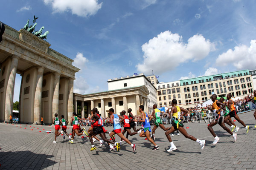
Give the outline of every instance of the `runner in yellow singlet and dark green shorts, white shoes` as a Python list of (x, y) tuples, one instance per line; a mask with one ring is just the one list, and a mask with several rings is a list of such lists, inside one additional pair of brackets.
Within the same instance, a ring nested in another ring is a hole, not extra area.
[(189, 135), (186, 130), (183, 127), (183, 123), (180, 121), (180, 111), (183, 112), (182, 116), (186, 115), (186, 113), (188, 113), (187, 110), (180, 108), (179, 106), (177, 106), (177, 100), (176, 99), (172, 99), (172, 109), (171, 112), (169, 113), (169, 119), (172, 118), (172, 127), (170, 130), (166, 131), (166, 137), (169, 140), (171, 147), (169, 150), (167, 150), (168, 152), (172, 152), (173, 150), (176, 150), (177, 147), (174, 145), (174, 143), (172, 142), (170, 133), (174, 132), (175, 130), (180, 130), (180, 133), (182, 133), (186, 138), (191, 139), (193, 141), (198, 142), (201, 145), (201, 149), (204, 149), (204, 144), (205, 144), (205, 140), (199, 140), (196, 139), (194, 136)]

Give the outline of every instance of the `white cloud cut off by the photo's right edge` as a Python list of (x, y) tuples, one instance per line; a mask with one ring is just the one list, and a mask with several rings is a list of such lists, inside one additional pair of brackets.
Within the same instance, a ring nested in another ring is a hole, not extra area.
[(256, 66), (256, 40), (250, 41), (250, 47), (239, 45), (234, 50), (229, 49), (216, 59), (219, 66), (233, 65), (236, 69), (255, 69)]

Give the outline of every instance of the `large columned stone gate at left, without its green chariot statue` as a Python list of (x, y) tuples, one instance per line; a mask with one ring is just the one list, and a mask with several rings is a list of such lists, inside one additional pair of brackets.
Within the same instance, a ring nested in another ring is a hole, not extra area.
[(51, 124), (55, 113), (72, 116), (73, 80), (79, 69), (49, 46), (24, 29), (5, 26), (0, 42), (0, 121), (8, 121), (12, 114), (16, 73), (22, 77), (20, 122), (39, 123), (43, 116)]

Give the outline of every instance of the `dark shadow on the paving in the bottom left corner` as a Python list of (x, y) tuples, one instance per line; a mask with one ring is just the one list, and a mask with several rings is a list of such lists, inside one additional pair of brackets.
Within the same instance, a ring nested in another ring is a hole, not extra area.
[(52, 155), (37, 154), (30, 151), (0, 152), (1, 169), (46, 169), (57, 162)]

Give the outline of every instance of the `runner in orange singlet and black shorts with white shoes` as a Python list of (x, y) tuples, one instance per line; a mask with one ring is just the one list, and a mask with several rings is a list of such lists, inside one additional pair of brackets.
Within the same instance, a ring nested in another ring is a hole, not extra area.
[(216, 134), (214, 133), (214, 131), (212, 129), (212, 127), (215, 126), (217, 123), (224, 130), (226, 130), (228, 133), (230, 133), (230, 135), (232, 135), (232, 137), (234, 138), (234, 142), (236, 142), (236, 133), (231, 132), (230, 129), (225, 126), (225, 124), (223, 122), (223, 116), (221, 116), (221, 109), (225, 108), (225, 103), (221, 103), (220, 101), (218, 101), (216, 94), (212, 94), (211, 99), (213, 102), (212, 103), (212, 111), (214, 113), (215, 120), (212, 121), (207, 128), (212, 133), (212, 136), (214, 137), (214, 141), (212, 142), (212, 144), (216, 144), (219, 140), (218, 136), (216, 136)]

